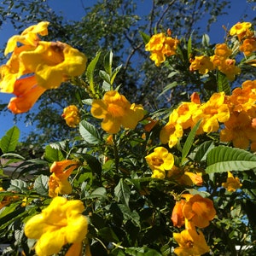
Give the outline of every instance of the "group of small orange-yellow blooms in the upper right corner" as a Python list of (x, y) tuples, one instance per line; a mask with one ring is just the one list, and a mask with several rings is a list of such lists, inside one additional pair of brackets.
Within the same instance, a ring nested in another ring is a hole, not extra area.
[[(251, 26), (252, 24), (249, 22), (242, 22), (230, 29), (230, 36), (238, 39), (239, 50), (246, 56), (256, 51), (256, 39)], [(192, 58), (189, 70), (191, 72), (198, 70), (199, 73), (206, 74), (217, 68), (230, 81), (233, 81), (236, 75), (241, 73), (241, 68), (236, 66), (236, 60), (232, 58), (232, 55), (235, 54), (234, 51), (236, 51), (236, 47), (230, 49), (227, 44), (216, 44), (214, 55), (200, 55)]]

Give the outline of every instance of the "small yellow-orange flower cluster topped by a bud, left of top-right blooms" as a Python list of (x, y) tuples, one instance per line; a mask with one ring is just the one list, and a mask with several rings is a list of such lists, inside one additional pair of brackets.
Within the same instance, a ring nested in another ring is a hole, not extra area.
[(157, 67), (166, 61), (166, 56), (176, 55), (179, 40), (170, 36), (171, 32), (169, 32), (167, 37), (165, 33), (158, 33), (153, 35), (148, 44), (146, 44), (146, 50), (151, 53), (150, 59), (154, 61)]

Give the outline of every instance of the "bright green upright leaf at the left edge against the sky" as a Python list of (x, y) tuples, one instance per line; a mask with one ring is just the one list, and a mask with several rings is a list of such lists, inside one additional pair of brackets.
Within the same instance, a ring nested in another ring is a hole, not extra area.
[(12, 127), (5, 133), (0, 141), (3, 153), (14, 152), (19, 142), (20, 130), (17, 126)]

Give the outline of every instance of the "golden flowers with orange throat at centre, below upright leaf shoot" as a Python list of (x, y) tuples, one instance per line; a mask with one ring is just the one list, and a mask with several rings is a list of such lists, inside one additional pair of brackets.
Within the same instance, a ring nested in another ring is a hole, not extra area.
[(102, 129), (108, 133), (117, 133), (121, 125), (134, 129), (144, 115), (141, 105), (131, 105), (115, 90), (107, 91), (102, 100), (94, 100), (90, 112), (97, 119), (103, 119)]

